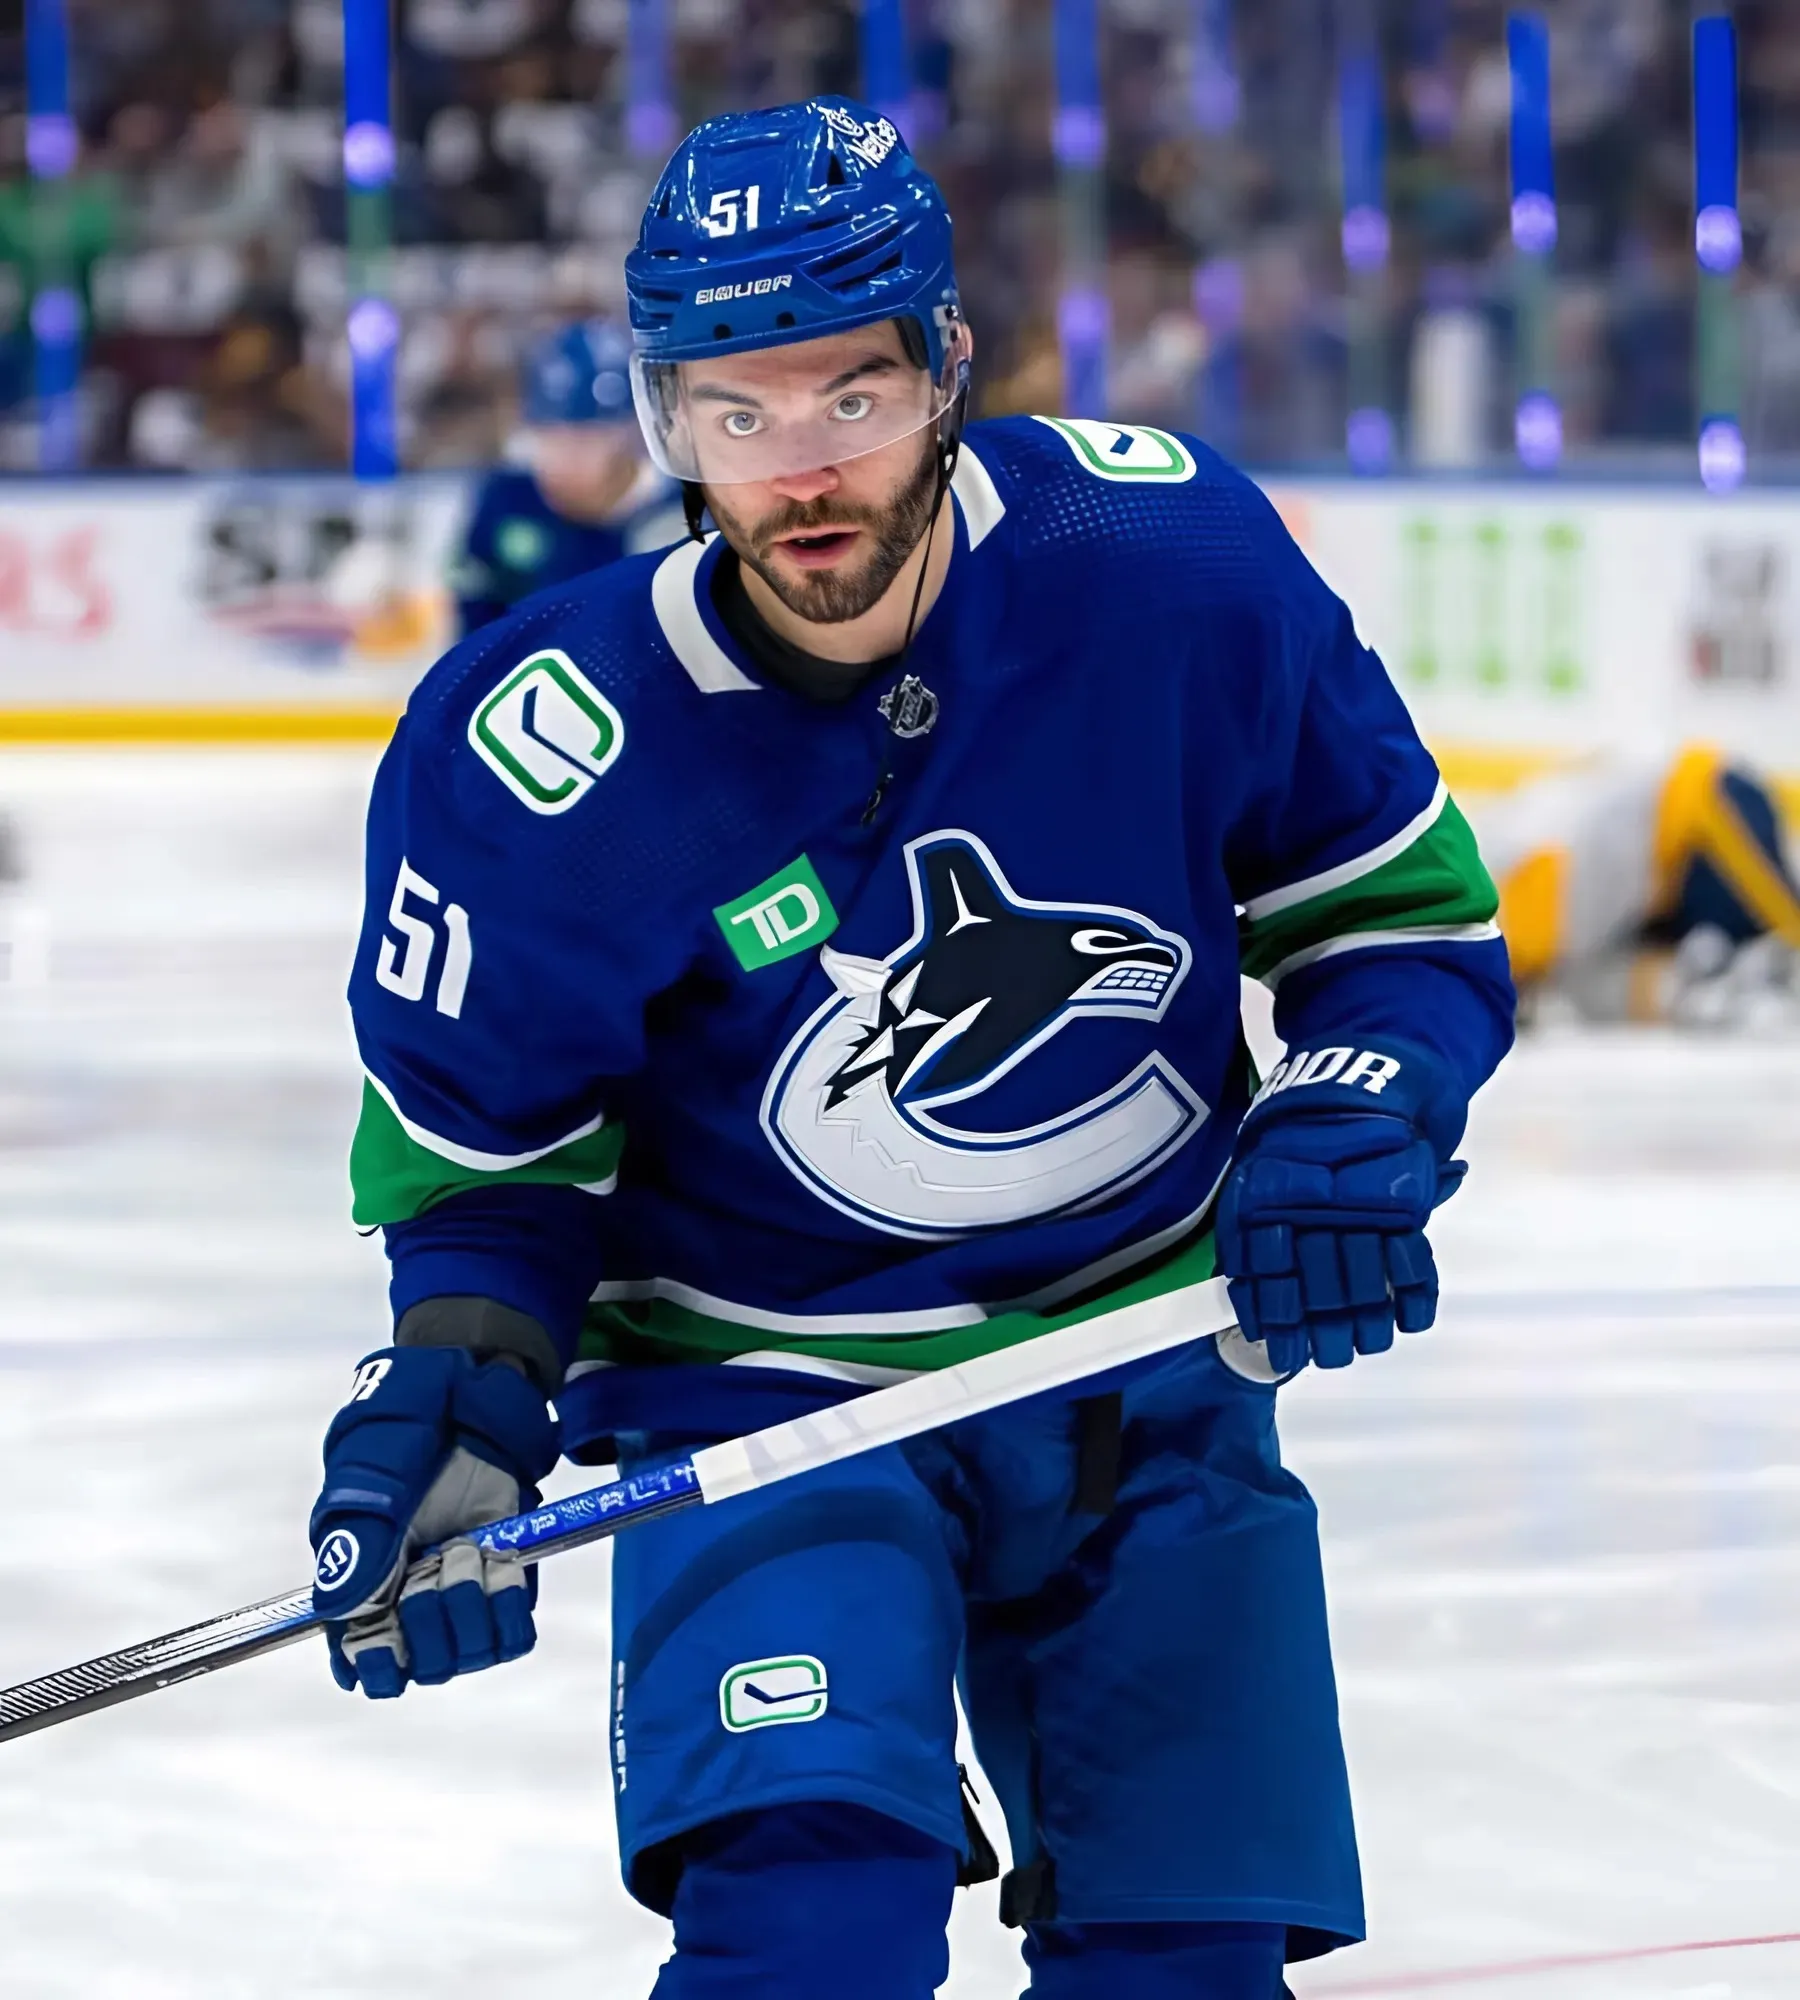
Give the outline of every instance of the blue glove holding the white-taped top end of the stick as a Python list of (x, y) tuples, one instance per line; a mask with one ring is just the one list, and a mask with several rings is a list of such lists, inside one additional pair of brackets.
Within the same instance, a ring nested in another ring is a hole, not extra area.
[(1424, 1050), (1296, 1050), (1238, 1132), (1218, 1268), (1276, 1376), (1384, 1354), (1438, 1314), (1430, 1212), (1462, 1180), (1462, 1092)]

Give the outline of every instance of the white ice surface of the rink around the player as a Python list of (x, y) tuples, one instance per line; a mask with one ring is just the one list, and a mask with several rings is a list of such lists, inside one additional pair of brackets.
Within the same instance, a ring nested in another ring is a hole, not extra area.
[[(0, 1684), (306, 1576), (384, 1324), (344, 1188), (368, 770), (0, 758)], [(1800, 1932), (1800, 1042), (1550, 1036), (1468, 1154), (1438, 1330), (1284, 1400), (1374, 1936), (1296, 1990), (1800, 1994), (1800, 1944), (1426, 1978)], [(0, 1748), (0, 1994), (640, 2000), (604, 1598), (566, 1558), (530, 1662), (394, 1706), (308, 1646)], [(954, 1942), (946, 1994), (1016, 1994), (992, 1890)]]

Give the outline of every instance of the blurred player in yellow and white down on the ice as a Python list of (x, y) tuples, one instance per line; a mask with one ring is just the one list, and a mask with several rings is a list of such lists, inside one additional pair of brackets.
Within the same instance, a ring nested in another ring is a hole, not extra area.
[(1800, 1022), (1782, 810), (1718, 750), (1586, 764), (1470, 818), (1532, 1002), (1554, 994), (1602, 1022)]

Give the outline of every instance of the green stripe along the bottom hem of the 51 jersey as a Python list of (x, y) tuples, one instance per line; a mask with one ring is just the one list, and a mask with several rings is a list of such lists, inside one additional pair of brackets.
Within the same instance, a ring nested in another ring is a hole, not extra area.
[[(1178, 1250), (1152, 1262), (1124, 1284), (1096, 1290), (1080, 1304), (1058, 1312), (992, 1312), (974, 1326), (944, 1326), (936, 1332), (908, 1334), (798, 1334), (744, 1326), (738, 1320), (716, 1318), (678, 1306), (668, 1298), (606, 1302), (588, 1308), (578, 1360), (610, 1362), (614, 1366), (658, 1366), (670, 1362), (724, 1362), (734, 1354), (794, 1354), (828, 1362), (852, 1362), (876, 1368), (954, 1368), (992, 1354), (996, 1348), (1018, 1346), (1058, 1326), (1092, 1320), (1116, 1306), (1134, 1306), (1140, 1298), (1160, 1298), (1184, 1286), (1200, 1284), (1214, 1272), (1212, 1232), (1190, 1238)], [(1194, 1338), (1216, 1332), (1214, 1324), (1196, 1320)]]

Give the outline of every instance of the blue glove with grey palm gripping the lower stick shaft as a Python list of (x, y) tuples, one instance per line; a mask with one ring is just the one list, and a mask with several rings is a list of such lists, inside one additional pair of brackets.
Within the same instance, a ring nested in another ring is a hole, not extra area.
[[(380, 1700), (532, 1650), (538, 1572), (456, 1536), (536, 1506), (556, 1450), (542, 1390), (506, 1362), (460, 1348), (362, 1362), (326, 1432), (308, 1528), (340, 1688)], [(414, 1560), (434, 1542), (448, 1546)]]

